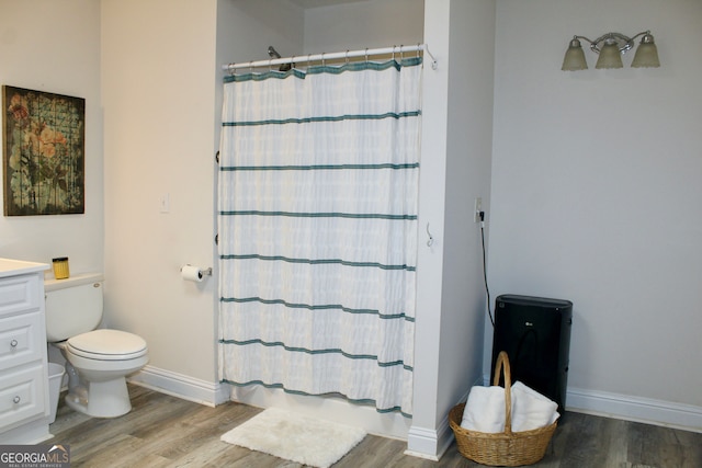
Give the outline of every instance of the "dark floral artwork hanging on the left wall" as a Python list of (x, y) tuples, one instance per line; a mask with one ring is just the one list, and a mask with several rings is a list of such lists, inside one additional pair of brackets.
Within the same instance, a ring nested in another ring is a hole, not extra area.
[(86, 100), (2, 87), (4, 215), (86, 213)]

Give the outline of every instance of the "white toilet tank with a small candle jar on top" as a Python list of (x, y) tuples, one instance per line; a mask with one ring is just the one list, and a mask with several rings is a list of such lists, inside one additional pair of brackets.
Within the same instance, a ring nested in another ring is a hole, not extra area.
[(68, 340), (98, 328), (102, 320), (102, 273), (45, 279), (46, 341)]

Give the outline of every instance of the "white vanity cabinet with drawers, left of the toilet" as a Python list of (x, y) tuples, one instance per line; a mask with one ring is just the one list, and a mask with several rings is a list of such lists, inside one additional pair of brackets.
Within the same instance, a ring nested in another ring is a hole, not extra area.
[(48, 437), (44, 263), (0, 259), (0, 444)]

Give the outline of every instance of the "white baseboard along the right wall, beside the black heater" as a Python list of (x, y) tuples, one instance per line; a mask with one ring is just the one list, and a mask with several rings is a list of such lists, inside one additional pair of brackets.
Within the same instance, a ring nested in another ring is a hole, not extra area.
[(702, 407), (691, 404), (568, 388), (566, 409), (702, 433)]

